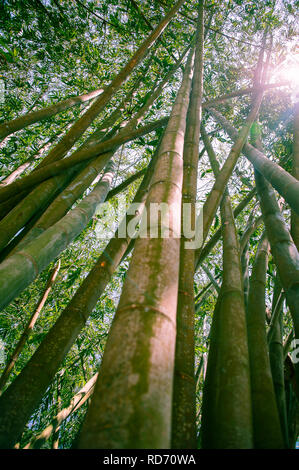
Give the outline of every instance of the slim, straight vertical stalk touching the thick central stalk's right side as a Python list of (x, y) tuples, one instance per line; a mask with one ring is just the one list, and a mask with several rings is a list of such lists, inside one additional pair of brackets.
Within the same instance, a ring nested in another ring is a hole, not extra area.
[[(204, 1), (201, 0), (198, 13), (194, 75), (183, 154), (182, 208), (184, 204), (191, 204), (193, 218), (195, 218), (198, 145), (203, 94), (203, 50)], [(182, 220), (182, 228), (183, 224), (184, 221)], [(190, 243), (190, 240), (184, 237), (182, 230), (172, 402), (171, 447), (175, 449), (196, 448), (194, 249), (186, 248), (186, 242)]]

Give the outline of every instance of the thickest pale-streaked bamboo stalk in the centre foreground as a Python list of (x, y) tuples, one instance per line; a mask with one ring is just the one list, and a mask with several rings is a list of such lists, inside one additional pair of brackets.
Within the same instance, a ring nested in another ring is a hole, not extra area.
[[(171, 238), (135, 242), (80, 448), (167, 448), (171, 438), (183, 143), (193, 53), (172, 109), (146, 202), (173, 204)], [(156, 225), (157, 224), (157, 225)]]

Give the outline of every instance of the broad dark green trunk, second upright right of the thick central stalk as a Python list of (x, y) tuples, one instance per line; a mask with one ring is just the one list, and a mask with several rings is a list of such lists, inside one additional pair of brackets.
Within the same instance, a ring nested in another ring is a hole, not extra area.
[(221, 203), (223, 282), (214, 310), (202, 405), (202, 447), (253, 448), (250, 368), (239, 243), (228, 196)]

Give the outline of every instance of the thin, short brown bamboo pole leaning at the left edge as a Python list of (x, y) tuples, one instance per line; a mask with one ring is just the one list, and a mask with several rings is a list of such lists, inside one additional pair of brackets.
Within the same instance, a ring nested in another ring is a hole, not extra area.
[(39, 314), (40, 314), (43, 306), (46, 303), (46, 300), (47, 300), (47, 298), (50, 294), (50, 291), (53, 287), (55, 279), (58, 275), (59, 269), (60, 269), (60, 261), (58, 261), (58, 263), (54, 266), (52, 272), (50, 273), (49, 278), (47, 280), (45, 290), (42, 293), (41, 298), (39, 299), (39, 301), (37, 303), (37, 306), (36, 306), (33, 314), (31, 315), (30, 320), (28, 321), (28, 323), (25, 327), (25, 330), (23, 331), (23, 333), (22, 333), (22, 335), (21, 335), (21, 337), (20, 337), (13, 353), (11, 354), (4, 371), (2, 372), (2, 375), (0, 377), (0, 394), (1, 394), (1, 391), (3, 390), (4, 386), (6, 385), (8, 379), (9, 379), (9, 376), (10, 376), (10, 374), (11, 374), (13, 368), (14, 368), (14, 365), (15, 365), (19, 355), (21, 354), (21, 352), (24, 348), (24, 345), (25, 345), (29, 335), (31, 334), (31, 332), (34, 328), (34, 325), (35, 325), (35, 323), (36, 323), (36, 321), (39, 317)]

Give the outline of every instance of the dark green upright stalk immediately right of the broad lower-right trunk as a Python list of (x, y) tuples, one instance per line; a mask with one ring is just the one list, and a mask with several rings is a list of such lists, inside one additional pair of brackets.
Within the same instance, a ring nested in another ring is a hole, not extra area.
[(264, 235), (255, 256), (247, 306), (253, 435), (254, 447), (257, 449), (282, 449), (284, 442), (271, 375), (265, 323), (269, 250), (269, 242)]

